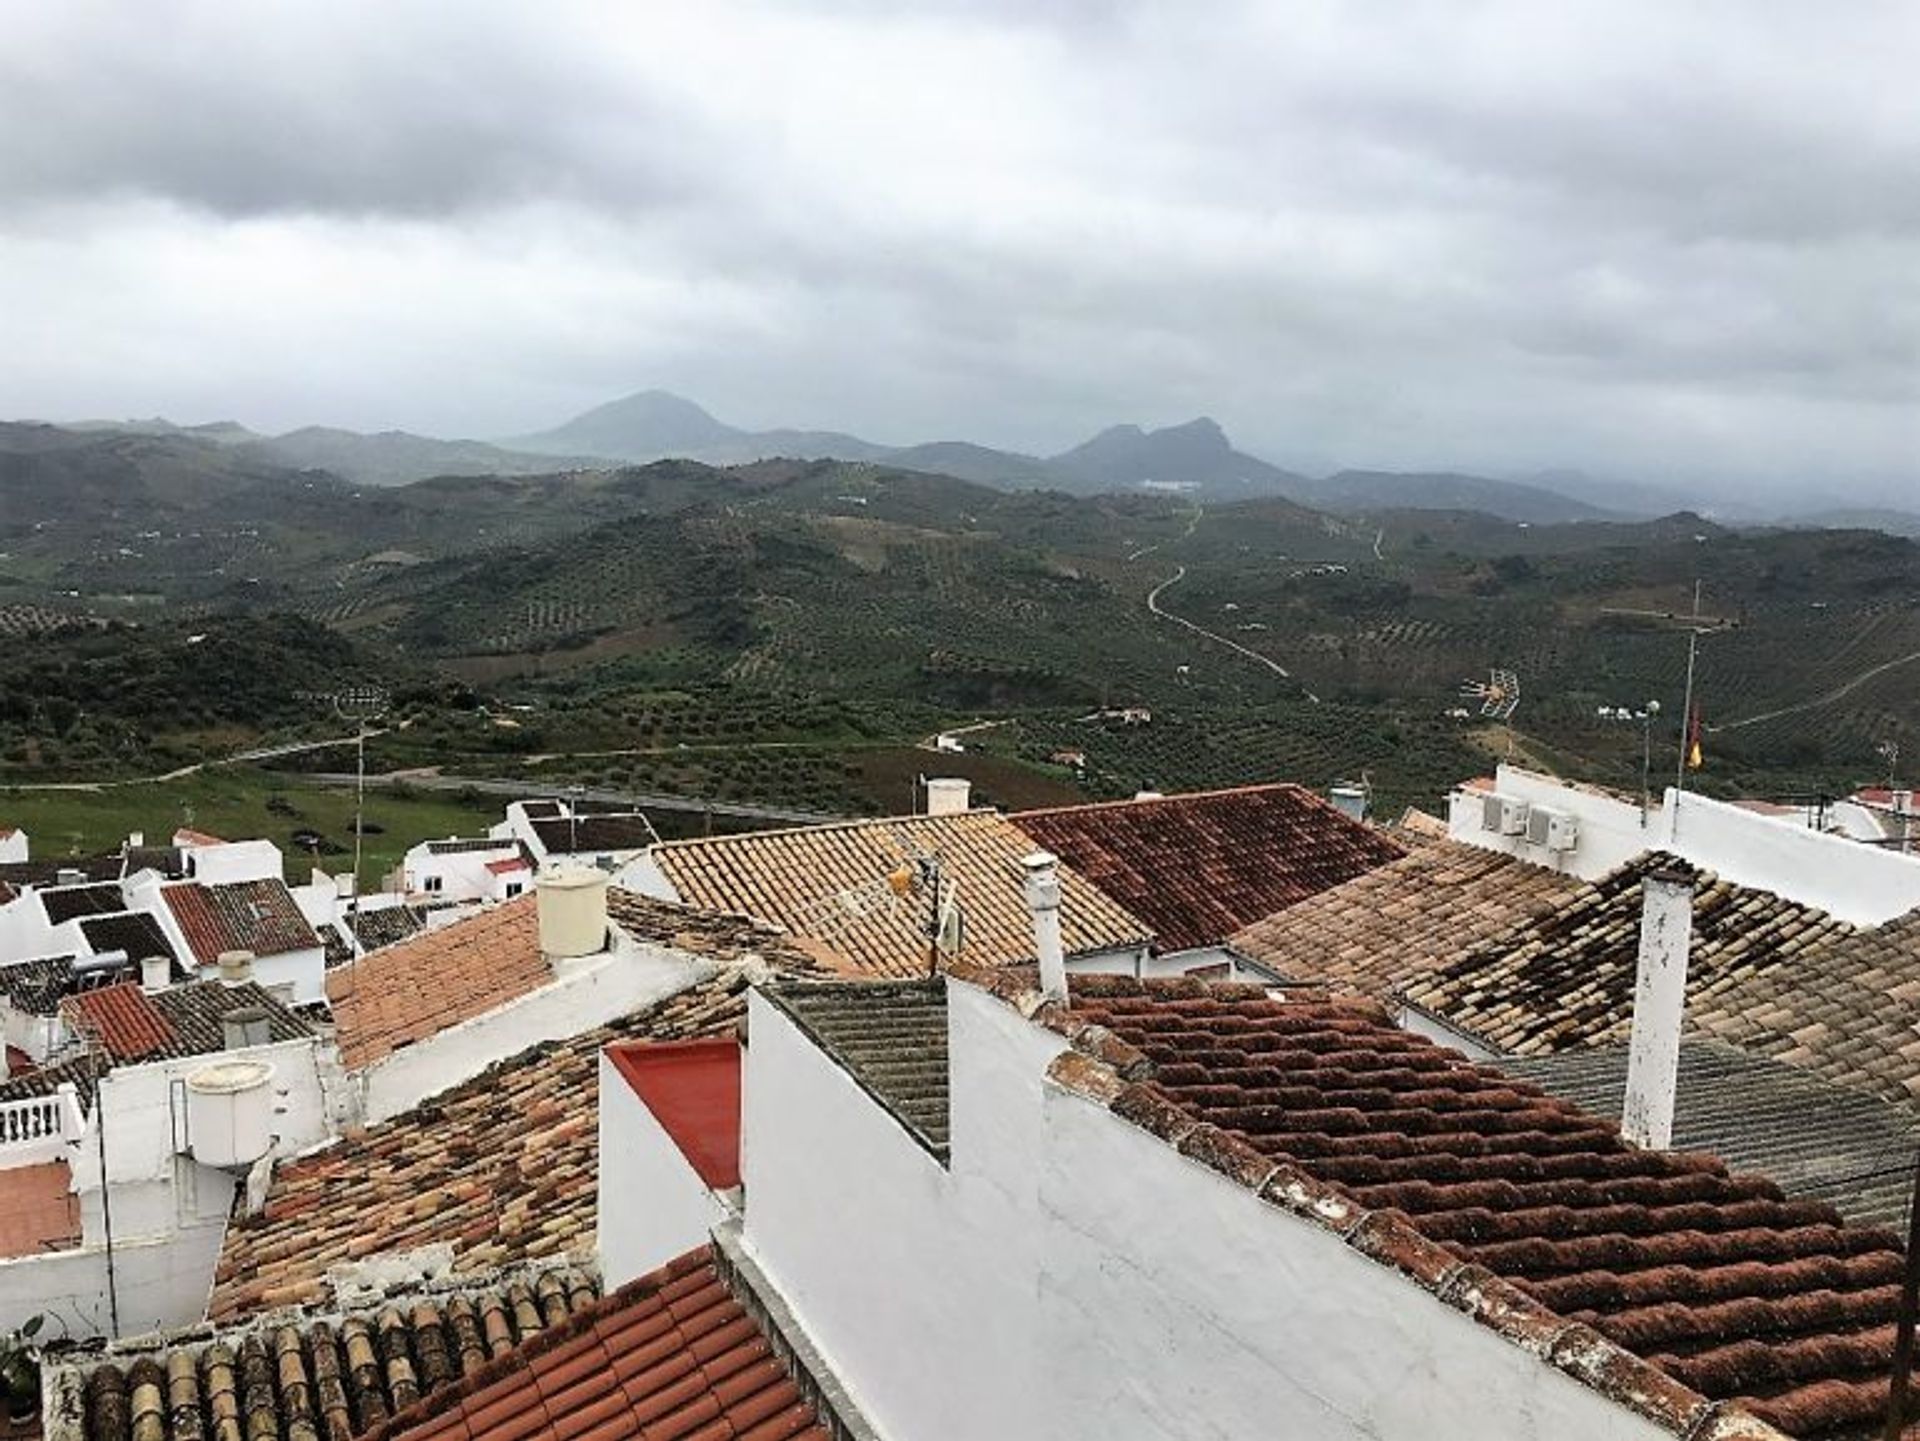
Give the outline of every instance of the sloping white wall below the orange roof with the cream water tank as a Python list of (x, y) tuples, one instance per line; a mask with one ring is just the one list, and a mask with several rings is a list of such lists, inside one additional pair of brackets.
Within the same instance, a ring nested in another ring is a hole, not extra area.
[(369, 1124), (386, 1121), (528, 1046), (578, 1036), (666, 1000), (714, 971), (712, 961), (687, 952), (636, 942), (574, 961), (551, 984), (357, 1071), (363, 1115)]

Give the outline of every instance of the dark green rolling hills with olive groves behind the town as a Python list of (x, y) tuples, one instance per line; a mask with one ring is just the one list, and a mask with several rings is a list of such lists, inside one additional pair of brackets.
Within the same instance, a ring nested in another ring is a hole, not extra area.
[[(1628, 783), (1638, 727), (1596, 708), (1678, 704), (1674, 618), (1695, 578), (1732, 622), (1701, 645), (1709, 727), (1780, 712), (1713, 739), (1718, 764), (1799, 781), (1920, 735), (1920, 545), (1874, 532), (1354, 518), (1281, 495), (1079, 497), (847, 461), (371, 487), (196, 436), (0, 426), (8, 633), (292, 612), (399, 672), (553, 704), (720, 685), (726, 708), (912, 714), (893, 735), (987, 714), (1041, 764), (1094, 744), (1077, 716), (1148, 704), (1164, 727), (1094, 748), (1112, 775), (1165, 785), (1371, 768), (1384, 794), (1425, 794), (1473, 764), (1444, 716), (1486, 666), (1523, 675), (1548, 754)], [(1150, 591), (1202, 633), (1154, 614)], [(259, 714), (280, 714), (269, 700)], [(726, 708), (716, 735), (741, 737)], [(599, 744), (628, 743), (614, 727)]]

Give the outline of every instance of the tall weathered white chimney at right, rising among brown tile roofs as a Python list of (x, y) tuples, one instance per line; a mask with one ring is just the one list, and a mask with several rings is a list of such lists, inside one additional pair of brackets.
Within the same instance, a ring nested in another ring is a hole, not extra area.
[(1640, 888), (1640, 969), (1634, 977), (1634, 1032), (1626, 1053), (1620, 1134), (1634, 1146), (1665, 1151), (1672, 1144), (1674, 1088), (1680, 1082), (1693, 877), (1678, 867), (1661, 867), (1649, 871)]

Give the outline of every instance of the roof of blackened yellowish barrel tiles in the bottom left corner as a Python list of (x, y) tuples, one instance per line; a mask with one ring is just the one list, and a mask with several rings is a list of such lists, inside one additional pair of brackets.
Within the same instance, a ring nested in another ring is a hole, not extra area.
[[(278, 1312), (79, 1358), (84, 1441), (349, 1441), (597, 1301), (553, 1266), (417, 1289), (346, 1312)], [(58, 1364), (58, 1362), (56, 1362)]]

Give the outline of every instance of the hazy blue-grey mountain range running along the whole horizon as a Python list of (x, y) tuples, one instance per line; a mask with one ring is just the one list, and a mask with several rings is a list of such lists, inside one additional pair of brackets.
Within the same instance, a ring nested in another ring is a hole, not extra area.
[[(1655, 485), (1603, 482), (1578, 470), (1500, 480), (1452, 470), (1340, 470), (1306, 476), (1233, 445), (1212, 418), (1146, 430), (1119, 424), (1050, 457), (1002, 451), (966, 439), (883, 445), (837, 430), (743, 430), (695, 401), (647, 390), (593, 407), (553, 430), (532, 436), (438, 439), (401, 430), (361, 434), (305, 426), (261, 436), (236, 422), (175, 426), (167, 420), (81, 422), (69, 430), (123, 430), (200, 439), (246, 461), (294, 470), (324, 470), (361, 485), (405, 485), (440, 476), (534, 476), (555, 470), (599, 470), (691, 459), (712, 466), (764, 459), (864, 461), (954, 476), (1002, 489), (1058, 489), (1071, 495), (1162, 491), (1204, 503), (1284, 497), (1332, 512), (1478, 510), (1519, 524), (1622, 520), (1709, 510), (1692, 497)], [(1724, 508), (1720, 514), (1728, 514)], [(1763, 512), (1728, 514), (1763, 522)], [(1920, 516), (1901, 510), (1812, 512), (1795, 524), (1870, 526), (1920, 533)]]

